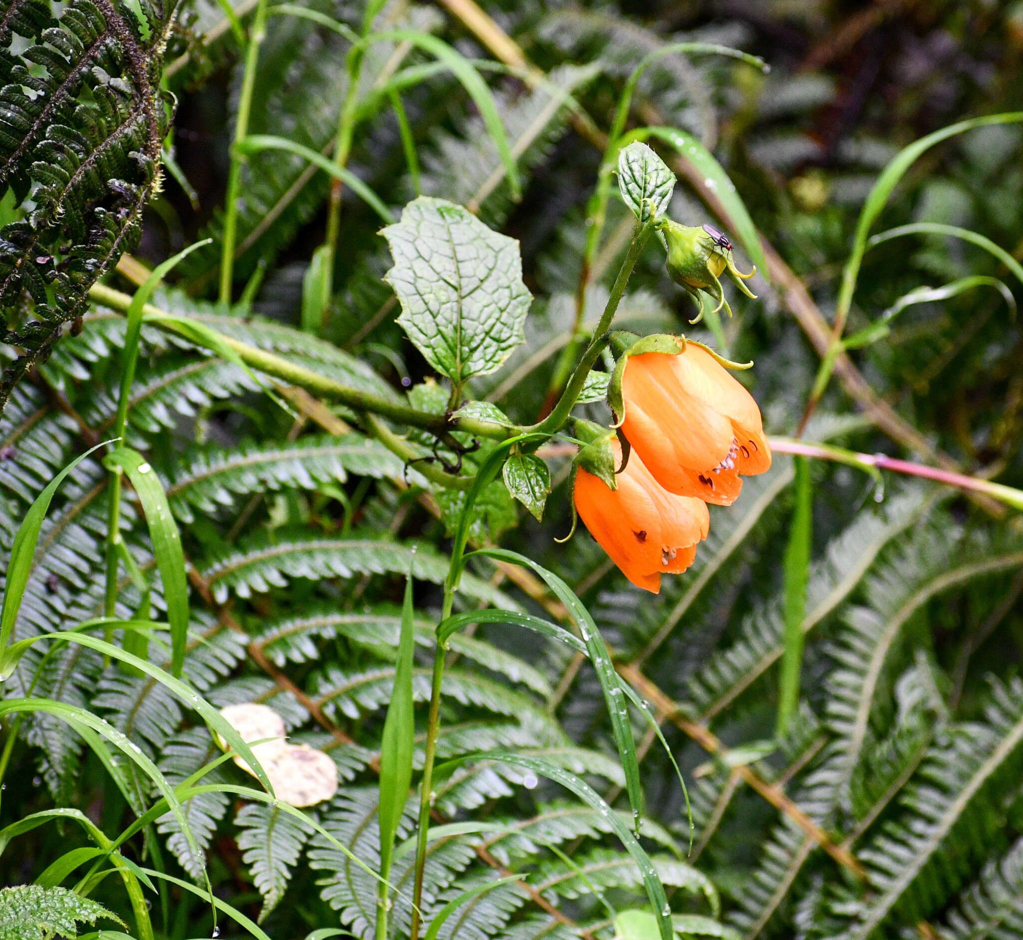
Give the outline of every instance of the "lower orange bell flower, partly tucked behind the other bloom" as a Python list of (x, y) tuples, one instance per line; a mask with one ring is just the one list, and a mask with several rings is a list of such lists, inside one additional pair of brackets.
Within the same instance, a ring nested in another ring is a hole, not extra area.
[[(612, 444), (617, 461), (621, 445)], [(667, 492), (633, 450), (612, 490), (582, 466), (575, 480), (575, 506), (589, 534), (636, 587), (661, 590), (662, 574), (681, 574), (707, 538), (710, 513), (700, 499)]]

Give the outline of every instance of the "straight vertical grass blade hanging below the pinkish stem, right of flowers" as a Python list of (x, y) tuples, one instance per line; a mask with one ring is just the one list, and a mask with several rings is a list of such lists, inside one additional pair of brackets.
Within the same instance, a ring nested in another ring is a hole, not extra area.
[(810, 566), (813, 526), (810, 465), (806, 457), (794, 457), (796, 467), (795, 507), (785, 550), (785, 650), (777, 702), (777, 734), (781, 736), (799, 704), (799, 673), (803, 664), (803, 618), (806, 616), (806, 579)]

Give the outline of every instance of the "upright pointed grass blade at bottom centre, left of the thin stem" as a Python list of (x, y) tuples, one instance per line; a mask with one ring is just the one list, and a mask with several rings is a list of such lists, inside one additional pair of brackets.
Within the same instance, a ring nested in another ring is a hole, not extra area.
[(415, 611), (412, 608), (412, 576), (405, 580), (405, 599), (401, 609), (401, 634), (394, 690), (384, 721), (381, 742), (381, 904), (376, 908), (376, 935), (387, 937), (387, 879), (391, 874), (394, 839), (408, 800), (412, 782), (412, 752), (415, 746), (415, 712), (412, 697), (412, 656), (415, 652)]

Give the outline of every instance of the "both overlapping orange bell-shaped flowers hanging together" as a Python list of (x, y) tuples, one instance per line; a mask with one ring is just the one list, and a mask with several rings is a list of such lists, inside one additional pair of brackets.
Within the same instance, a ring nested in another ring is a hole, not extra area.
[(735, 502), (740, 474), (766, 471), (770, 448), (753, 397), (693, 343), (677, 355), (629, 357), (622, 402), (632, 452), (618, 489), (580, 466), (575, 504), (624, 575), (657, 593), (662, 574), (693, 564), (710, 527), (707, 503)]

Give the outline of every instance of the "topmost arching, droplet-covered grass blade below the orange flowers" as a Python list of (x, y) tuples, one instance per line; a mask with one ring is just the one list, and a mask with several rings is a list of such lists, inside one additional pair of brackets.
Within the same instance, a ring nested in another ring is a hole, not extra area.
[(639, 762), (636, 759), (636, 746), (632, 737), (632, 725), (629, 723), (628, 710), (625, 707), (625, 693), (615, 671), (615, 666), (611, 661), (611, 654), (604, 642), (601, 631), (597, 630), (593, 618), (586, 610), (583, 602), (576, 597), (570, 588), (553, 572), (547, 571), (535, 562), (505, 548), (482, 548), (474, 554), (486, 555), (491, 558), (500, 558), (503, 562), (510, 562), (513, 565), (521, 565), (532, 569), (547, 587), (553, 591), (554, 596), (565, 605), (572, 619), (575, 621), (582, 640), (586, 644), (590, 662), (596, 672), (601, 682), (601, 690), (604, 692), (604, 701), (611, 716), (611, 727), (615, 735), (615, 746), (618, 748), (618, 756), (622, 762), (622, 770), (625, 773), (625, 789), (628, 791), (629, 803), (632, 806), (632, 816), (635, 819), (636, 829), (639, 827), (639, 816), (642, 813), (642, 786), (639, 781)]

